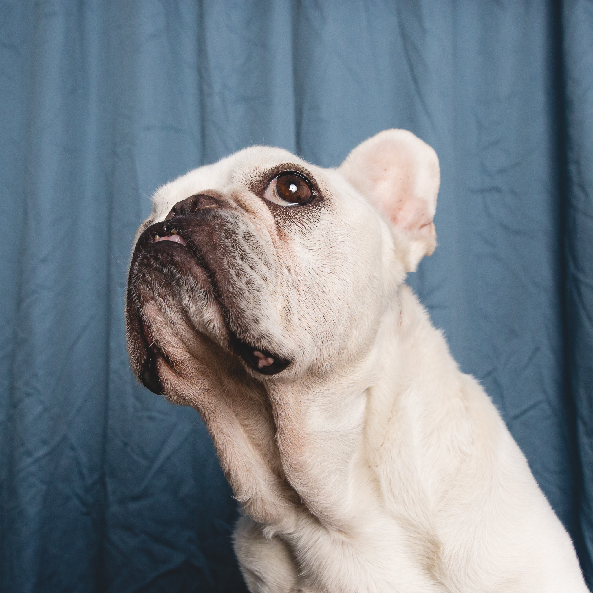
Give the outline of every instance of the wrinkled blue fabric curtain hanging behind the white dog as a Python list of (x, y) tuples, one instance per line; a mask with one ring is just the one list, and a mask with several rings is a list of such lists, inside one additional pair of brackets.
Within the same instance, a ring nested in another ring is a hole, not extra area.
[(251, 144), (434, 146), (410, 282), (593, 553), (593, 4), (0, 1), (0, 590), (241, 591), (197, 413), (136, 384), (132, 237)]

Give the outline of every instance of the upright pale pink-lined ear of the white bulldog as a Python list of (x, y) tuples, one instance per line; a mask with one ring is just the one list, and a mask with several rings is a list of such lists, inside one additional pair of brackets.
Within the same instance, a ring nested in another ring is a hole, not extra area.
[(407, 130), (384, 130), (340, 166), (347, 180), (387, 215), (406, 248), (407, 272), (436, 247), (432, 222), (441, 174), (436, 152)]

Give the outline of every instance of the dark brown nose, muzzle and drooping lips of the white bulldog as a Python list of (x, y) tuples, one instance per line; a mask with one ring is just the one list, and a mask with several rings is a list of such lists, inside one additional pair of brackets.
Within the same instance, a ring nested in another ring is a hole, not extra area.
[(157, 369), (159, 359), (167, 358), (147, 330), (142, 318), (143, 305), (146, 299), (154, 297), (155, 291), (168, 292), (171, 299), (176, 299), (176, 282), (187, 276), (218, 304), (227, 326), (227, 347), (248, 366), (261, 374), (273, 375), (290, 363), (263, 345), (240, 339), (229, 323), (229, 308), (238, 295), (226, 273), (228, 262), (237, 257), (237, 252), (229, 248), (228, 237), (233, 236), (233, 225), (240, 220), (244, 220), (244, 213), (218, 192), (200, 193), (177, 202), (164, 221), (151, 225), (140, 235), (127, 283), (127, 345), (136, 377), (153, 393), (163, 393)]

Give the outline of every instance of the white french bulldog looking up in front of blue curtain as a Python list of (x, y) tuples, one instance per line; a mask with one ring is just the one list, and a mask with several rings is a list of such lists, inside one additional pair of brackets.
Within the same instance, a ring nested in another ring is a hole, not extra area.
[(244, 508), (252, 592), (588, 591), (490, 399), (404, 284), (435, 248), (435, 152), (337, 169), (254, 146), (161, 187), (136, 235), (139, 380), (195, 407)]

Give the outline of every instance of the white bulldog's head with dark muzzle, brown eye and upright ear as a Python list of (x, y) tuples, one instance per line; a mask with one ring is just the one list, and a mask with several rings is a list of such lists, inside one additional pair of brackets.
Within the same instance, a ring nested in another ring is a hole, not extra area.
[(254, 146), (161, 187), (128, 278), (136, 376), (170, 396), (188, 361), (264, 381), (352, 364), (435, 248), (438, 188), (435, 152), (404, 130), (336, 169)]

